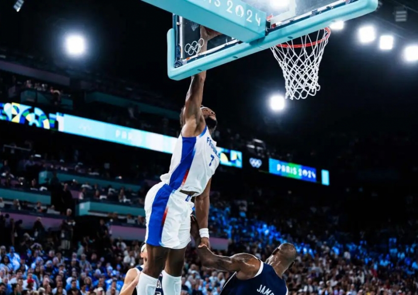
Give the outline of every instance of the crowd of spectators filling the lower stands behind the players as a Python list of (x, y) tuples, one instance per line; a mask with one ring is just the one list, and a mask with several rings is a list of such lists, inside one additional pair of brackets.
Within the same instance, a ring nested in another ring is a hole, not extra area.
[[(4, 164), (1, 171), (14, 174), (13, 169)], [(62, 185), (63, 190), (68, 187), (59, 179), (51, 181)], [(83, 197), (79, 196), (79, 199), (86, 198), (93, 187), (81, 185), (79, 195)], [(259, 198), (268, 195), (263, 190), (254, 190), (253, 194), (255, 199), (257, 194)], [(227, 252), (216, 252), (223, 255), (247, 252), (265, 260), (281, 242), (294, 243), (299, 252), (297, 264), (285, 274), (292, 295), (417, 294), (415, 199), (405, 199), (410, 202), (410, 210), (405, 211), (408, 219), (397, 226), (412, 235), (402, 240), (397, 237), (401, 236), (401, 229), (390, 232), (386, 224), (375, 229), (371, 236), (365, 233), (356, 236), (349, 230), (343, 232), (344, 212), (338, 211), (335, 204), (304, 206), (291, 192), (283, 196), (283, 200), (277, 216), (277, 208), (269, 208), (267, 203), (259, 205), (251, 198), (226, 201), (222, 199), (222, 192), (213, 193), (211, 236), (228, 238), (231, 243)], [(142, 263), (139, 256), (141, 241), (122, 241), (112, 236), (107, 225), (110, 218), (97, 222), (96, 233), (80, 237), (66, 231), (77, 222), (69, 208), (61, 212), (65, 221), (56, 231), (45, 228), (42, 218), (38, 218), (32, 228), (24, 229), (18, 220), (11, 220), (7, 215), (9, 209), (40, 213), (47, 212), (50, 206), (19, 200), (5, 204), (0, 200), (0, 208), (1, 295), (118, 295), (124, 273)], [(265, 217), (274, 214), (277, 217)], [(143, 225), (138, 222), (138, 226)], [(229, 275), (202, 267), (194, 248), (190, 247), (182, 292), (184, 295), (217, 295)]]

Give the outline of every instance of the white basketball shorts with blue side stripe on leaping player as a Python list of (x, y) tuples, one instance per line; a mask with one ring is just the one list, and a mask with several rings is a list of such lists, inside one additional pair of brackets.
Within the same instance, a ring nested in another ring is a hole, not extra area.
[(160, 182), (145, 197), (147, 233), (145, 242), (153, 246), (182, 249), (190, 242), (191, 196)]

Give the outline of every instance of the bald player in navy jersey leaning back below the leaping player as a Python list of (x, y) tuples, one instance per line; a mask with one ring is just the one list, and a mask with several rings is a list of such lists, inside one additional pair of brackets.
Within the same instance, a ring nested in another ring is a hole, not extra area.
[(295, 263), (297, 252), (294, 245), (281, 244), (263, 263), (246, 253), (231, 257), (213, 254), (206, 245), (200, 243), (198, 224), (193, 216), (190, 233), (196, 244), (200, 244), (197, 253), (203, 266), (234, 272), (220, 295), (287, 295), (282, 276)]

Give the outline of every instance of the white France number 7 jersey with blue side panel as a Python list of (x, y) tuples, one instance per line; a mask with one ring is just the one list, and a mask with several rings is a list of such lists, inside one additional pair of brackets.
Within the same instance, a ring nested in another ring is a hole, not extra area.
[(161, 176), (161, 181), (175, 190), (196, 192), (200, 195), (219, 165), (216, 142), (209, 134), (208, 127), (196, 137), (177, 139), (170, 171)]

